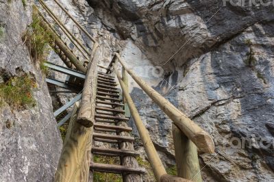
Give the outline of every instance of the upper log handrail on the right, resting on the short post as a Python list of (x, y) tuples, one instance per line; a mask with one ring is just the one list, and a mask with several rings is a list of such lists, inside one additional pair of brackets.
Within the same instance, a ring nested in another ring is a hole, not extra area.
[(127, 73), (138, 83), (149, 97), (162, 109), (162, 111), (175, 122), (175, 125), (184, 132), (184, 134), (194, 142), (198, 148), (205, 153), (214, 153), (214, 142), (210, 135), (201, 129), (195, 122), (190, 120), (184, 115), (177, 107), (166, 100), (161, 94), (156, 92), (151, 86), (148, 86), (145, 81), (136, 76), (132, 70), (125, 66), (125, 62), (121, 59), (120, 55), (116, 53), (116, 57), (122, 66), (127, 70)]

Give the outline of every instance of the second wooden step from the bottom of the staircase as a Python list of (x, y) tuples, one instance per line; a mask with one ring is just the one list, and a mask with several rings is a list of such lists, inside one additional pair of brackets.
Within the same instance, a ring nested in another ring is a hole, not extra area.
[(138, 157), (140, 155), (136, 151), (121, 150), (121, 149), (115, 149), (115, 148), (99, 148), (99, 147), (92, 147), (91, 152), (97, 155), (108, 155), (108, 156)]

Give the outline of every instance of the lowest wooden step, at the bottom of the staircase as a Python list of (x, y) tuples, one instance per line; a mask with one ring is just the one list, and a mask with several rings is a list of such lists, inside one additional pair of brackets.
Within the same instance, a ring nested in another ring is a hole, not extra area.
[(144, 168), (130, 168), (127, 166), (119, 166), (113, 164), (99, 164), (99, 163), (90, 163), (90, 170), (95, 170), (98, 172), (112, 172), (112, 173), (134, 173), (134, 174), (143, 174), (145, 173)]

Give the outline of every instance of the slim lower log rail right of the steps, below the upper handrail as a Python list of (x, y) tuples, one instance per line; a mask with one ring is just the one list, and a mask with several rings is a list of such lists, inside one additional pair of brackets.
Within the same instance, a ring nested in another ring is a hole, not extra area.
[[(155, 178), (157, 179), (157, 181), (162, 181), (161, 179), (165, 179), (166, 175), (168, 174), (166, 174), (166, 170), (164, 169), (162, 161), (153, 145), (153, 142), (151, 141), (151, 138), (149, 136), (149, 131), (147, 131), (145, 125), (142, 123), (140, 115), (138, 114), (138, 110), (136, 109), (136, 106), (134, 105), (134, 101), (132, 101), (132, 97), (130, 96), (129, 91), (127, 90), (127, 86), (124, 83), (123, 78), (121, 77), (121, 74), (119, 73), (118, 69), (116, 68), (116, 63), (113, 64), (113, 67), (116, 73), (116, 77), (119, 80), (120, 86), (123, 90), (123, 96), (125, 96), (127, 104), (129, 105), (129, 110), (130, 110), (130, 113), (132, 114), (132, 118), (134, 118), (136, 128), (138, 129), (138, 133), (142, 140), (142, 144), (144, 145), (144, 148), (147, 153), (147, 157), (149, 159), (151, 167), (153, 169)], [(177, 177), (175, 178), (180, 179)], [(188, 180), (182, 179), (182, 181), (188, 181)]]

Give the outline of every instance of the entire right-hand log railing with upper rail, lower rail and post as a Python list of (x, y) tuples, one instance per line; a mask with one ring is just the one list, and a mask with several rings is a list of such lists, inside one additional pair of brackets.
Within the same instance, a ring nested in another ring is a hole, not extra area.
[[(118, 62), (122, 66), (123, 77), (117, 69)], [(199, 168), (199, 160), (197, 155), (197, 147), (204, 153), (214, 153), (214, 142), (211, 136), (201, 129), (195, 122), (186, 117), (179, 109), (164, 99), (158, 92), (153, 90), (148, 84), (138, 77), (132, 70), (127, 68), (125, 62), (121, 59), (119, 53), (115, 53), (107, 73), (114, 70), (116, 77), (119, 80), (123, 90), (123, 96), (129, 106), (130, 113), (134, 119), (136, 128), (144, 145), (147, 157), (153, 168), (153, 172), (157, 181), (202, 181)], [(173, 141), (175, 146), (175, 159), (177, 164), (178, 177), (172, 177), (166, 174), (166, 170), (162, 165), (162, 161), (158, 156), (155, 147), (150, 139), (149, 132), (143, 125), (138, 110), (134, 105), (128, 88), (127, 88), (127, 73), (138, 83), (140, 88), (144, 90), (150, 98), (158, 104), (162, 111), (173, 120)]]

